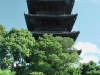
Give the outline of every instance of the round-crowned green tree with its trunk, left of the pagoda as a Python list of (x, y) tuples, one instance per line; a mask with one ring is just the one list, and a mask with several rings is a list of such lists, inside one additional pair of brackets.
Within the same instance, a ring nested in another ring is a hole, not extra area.
[[(30, 51), (33, 49), (35, 39), (32, 34), (25, 29), (12, 28), (6, 38), (3, 46), (12, 56), (12, 61), (15, 66), (12, 66), (12, 70), (16, 71), (16, 75), (25, 75), (27, 63), (25, 58), (30, 56)], [(24, 72), (23, 72), (24, 71)]]

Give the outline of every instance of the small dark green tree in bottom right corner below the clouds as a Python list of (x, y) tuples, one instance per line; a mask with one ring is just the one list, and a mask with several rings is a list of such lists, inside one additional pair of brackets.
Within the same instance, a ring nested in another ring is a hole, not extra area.
[(81, 64), (82, 75), (100, 75), (100, 66), (95, 62), (90, 61), (89, 63)]

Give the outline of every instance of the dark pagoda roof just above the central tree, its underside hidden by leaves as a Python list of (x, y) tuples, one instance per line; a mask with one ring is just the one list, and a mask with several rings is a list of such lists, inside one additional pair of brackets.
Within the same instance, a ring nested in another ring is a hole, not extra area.
[(77, 39), (77, 36), (79, 35), (79, 31), (73, 31), (73, 32), (58, 32), (58, 31), (32, 31), (32, 34), (34, 34), (35, 38), (38, 39), (39, 36), (42, 36), (45, 33), (53, 34), (54, 36), (61, 36), (61, 37), (70, 37), (74, 41)]

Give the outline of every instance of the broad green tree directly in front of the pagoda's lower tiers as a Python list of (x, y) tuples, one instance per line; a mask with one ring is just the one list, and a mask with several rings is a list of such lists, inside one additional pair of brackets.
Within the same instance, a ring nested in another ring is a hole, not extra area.
[(73, 44), (70, 38), (47, 34), (39, 37), (30, 56), (31, 70), (43, 72), (45, 75), (67, 75), (69, 69), (73, 68), (71, 65), (79, 59), (76, 52), (68, 53)]

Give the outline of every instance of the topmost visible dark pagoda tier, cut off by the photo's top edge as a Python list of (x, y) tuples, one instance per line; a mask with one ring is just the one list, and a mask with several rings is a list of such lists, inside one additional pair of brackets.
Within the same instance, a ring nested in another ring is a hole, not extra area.
[(71, 14), (75, 0), (27, 0), (30, 14)]

